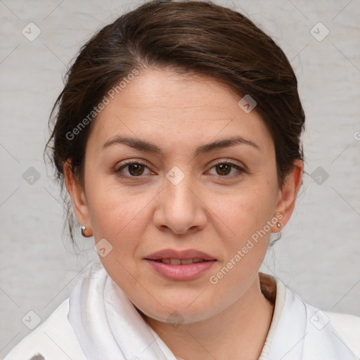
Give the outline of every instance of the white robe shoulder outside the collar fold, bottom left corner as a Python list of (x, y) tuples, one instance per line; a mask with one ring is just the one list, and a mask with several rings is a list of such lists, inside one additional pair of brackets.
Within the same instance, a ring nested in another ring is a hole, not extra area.
[(86, 360), (68, 321), (69, 299), (62, 302), (44, 323), (32, 330), (4, 360)]

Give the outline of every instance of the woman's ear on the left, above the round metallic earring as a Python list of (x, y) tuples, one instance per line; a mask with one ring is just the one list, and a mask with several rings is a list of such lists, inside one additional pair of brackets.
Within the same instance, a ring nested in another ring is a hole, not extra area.
[(81, 225), (86, 226), (86, 231), (91, 231), (89, 207), (86, 202), (84, 188), (79, 184), (74, 173), (72, 172), (70, 162), (67, 161), (64, 163), (63, 171), (65, 186), (72, 200), (75, 216)]

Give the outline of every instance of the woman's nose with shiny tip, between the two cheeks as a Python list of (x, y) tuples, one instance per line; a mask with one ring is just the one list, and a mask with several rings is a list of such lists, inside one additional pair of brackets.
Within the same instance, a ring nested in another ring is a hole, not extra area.
[(205, 227), (207, 215), (191, 176), (186, 175), (179, 184), (165, 179), (160, 191), (153, 221), (158, 229), (169, 230), (177, 235), (193, 233)]

